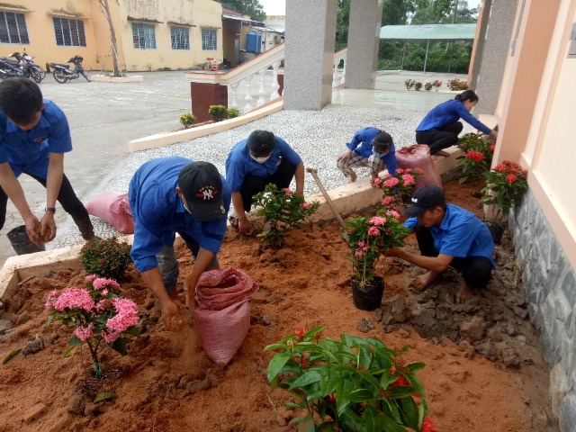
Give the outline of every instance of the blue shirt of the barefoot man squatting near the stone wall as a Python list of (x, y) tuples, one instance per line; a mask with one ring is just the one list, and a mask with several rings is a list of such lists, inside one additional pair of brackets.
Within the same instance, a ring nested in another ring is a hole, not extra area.
[[(404, 222), (408, 229), (414, 229), (417, 218)], [(446, 214), (440, 226), (430, 227), (434, 238), (434, 247), (440, 254), (450, 257), (485, 257), (496, 268), (492, 260), (494, 241), (490, 229), (475, 214), (455, 204), (446, 204)]]

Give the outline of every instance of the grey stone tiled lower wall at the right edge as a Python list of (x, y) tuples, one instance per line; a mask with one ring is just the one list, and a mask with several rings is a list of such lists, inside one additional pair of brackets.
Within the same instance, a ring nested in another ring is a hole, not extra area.
[(530, 320), (551, 369), (552, 409), (563, 432), (576, 432), (576, 275), (533, 193), (526, 193), (509, 224)]

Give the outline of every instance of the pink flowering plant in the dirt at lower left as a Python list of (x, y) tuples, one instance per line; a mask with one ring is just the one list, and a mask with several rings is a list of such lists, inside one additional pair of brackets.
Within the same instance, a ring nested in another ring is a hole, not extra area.
[(120, 284), (113, 279), (89, 275), (85, 277), (85, 288), (70, 287), (62, 293), (51, 291), (46, 301), (50, 311), (48, 323), (62, 321), (64, 325), (76, 326), (69, 340), (70, 347), (63, 356), (68, 356), (75, 347), (88, 346), (92, 365), (97, 378), (102, 377), (98, 352), (106, 345), (127, 354), (126, 335), (138, 336), (138, 307), (134, 302), (119, 295)]

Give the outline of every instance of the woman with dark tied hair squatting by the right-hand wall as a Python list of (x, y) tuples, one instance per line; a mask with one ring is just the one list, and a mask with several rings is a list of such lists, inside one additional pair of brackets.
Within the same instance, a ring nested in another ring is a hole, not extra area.
[(428, 145), (431, 155), (441, 152), (440, 155), (446, 156), (443, 148), (458, 144), (458, 134), (464, 129), (460, 119), (496, 140), (498, 131), (490, 129), (470, 113), (476, 103), (478, 96), (472, 90), (465, 90), (456, 94), (454, 100), (435, 106), (416, 128), (416, 142)]

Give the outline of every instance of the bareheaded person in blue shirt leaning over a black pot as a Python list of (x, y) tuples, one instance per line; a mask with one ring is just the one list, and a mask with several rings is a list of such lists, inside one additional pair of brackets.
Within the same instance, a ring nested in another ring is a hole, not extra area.
[[(4, 227), (8, 198), (20, 212), (26, 233), (40, 244), (56, 236), (56, 201), (72, 216), (82, 237), (94, 238), (94, 227), (85, 206), (64, 174), (64, 154), (72, 150), (66, 115), (56, 103), (42, 98), (40, 87), (26, 78), (0, 83), (0, 229)], [(46, 188), (46, 209), (38, 218), (31, 211), (21, 174), (30, 175)]]

